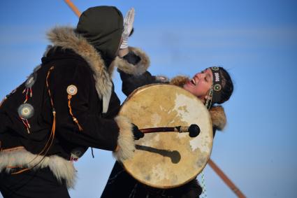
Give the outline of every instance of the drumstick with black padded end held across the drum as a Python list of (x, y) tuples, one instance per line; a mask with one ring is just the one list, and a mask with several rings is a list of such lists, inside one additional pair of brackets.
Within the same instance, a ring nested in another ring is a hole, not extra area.
[(140, 132), (144, 134), (157, 133), (157, 132), (179, 132), (179, 133), (187, 133), (189, 132), (189, 136), (194, 138), (200, 134), (200, 128), (198, 125), (190, 125), (189, 127), (178, 126), (178, 127), (156, 127), (156, 128), (147, 128), (147, 129), (139, 129)]

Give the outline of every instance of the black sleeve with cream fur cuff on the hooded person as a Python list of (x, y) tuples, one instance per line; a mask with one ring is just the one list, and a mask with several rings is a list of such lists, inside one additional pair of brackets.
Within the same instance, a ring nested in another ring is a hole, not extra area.
[[(64, 66), (52, 74), (50, 90), (56, 111), (57, 136), (80, 146), (104, 150), (115, 150), (119, 146), (117, 159), (131, 157), (134, 150), (131, 122), (122, 117), (102, 117), (99, 108), (96, 109), (99, 100), (92, 94), (92, 72), (86, 66)], [(77, 92), (69, 99), (67, 88), (70, 85), (74, 85)]]

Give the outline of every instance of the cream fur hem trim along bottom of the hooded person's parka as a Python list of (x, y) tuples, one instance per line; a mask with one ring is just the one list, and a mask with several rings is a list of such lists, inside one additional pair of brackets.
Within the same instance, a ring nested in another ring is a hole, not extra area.
[[(0, 152), (0, 172), (5, 170), (9, 173), (12, 171), (12, 169), (7, 167), (33, 167), (42, 158), (43, 156), (34, 155), (24, 148), (10, 151), (4, 150)], [(55, 175), (58, 181), (61, 182), (61, 180), (64, 179), (66, 181), (67, 188), (74, 188), (76, 170), (70, 161), (57, 155), (51, 155), (45, 157), (36, 167), (34, 167), (34, 169), (43, 169), (45, 167), (50, 168), (52, 174)]]

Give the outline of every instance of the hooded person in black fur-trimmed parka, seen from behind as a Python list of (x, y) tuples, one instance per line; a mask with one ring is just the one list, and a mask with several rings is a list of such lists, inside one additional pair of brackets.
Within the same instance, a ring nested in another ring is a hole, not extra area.
[(111, 79), (122, 30), (122, 13), (98, 6), (82, 13), (76, 29), (48, 33), (42, 64), (1, 103), (3, 197), (69, 197), (73, 161), (88, 147), (111, 150), (119, 162), (133, 155), (140, 132), (117, 116)]

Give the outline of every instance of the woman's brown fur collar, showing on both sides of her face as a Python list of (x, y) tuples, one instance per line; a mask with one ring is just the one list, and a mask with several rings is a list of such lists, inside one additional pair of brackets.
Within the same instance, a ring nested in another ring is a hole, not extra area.
[[(187, 76), (176, 76), (175, 78), (172, 78), (169, 83), (171, 85), (182, 87), (182, 85), (184, 85), (184, 83), (186, 83), (188, 80), (189, 78)], [(226, 126), (226, 115), (224, 108), (220, 105), (212, 106), (209, 112), (210, 117), (212, 118), (212, 126), (219, 130), (224, 129)]]

